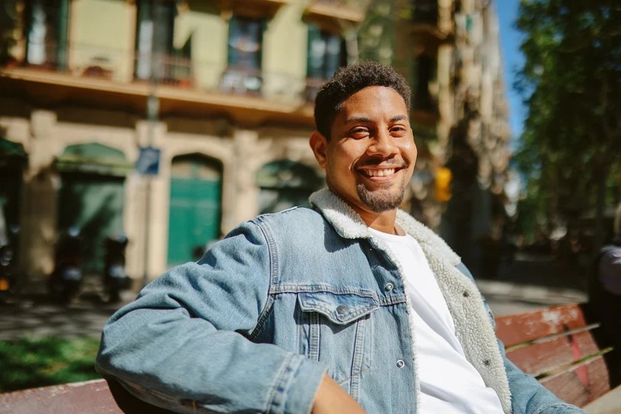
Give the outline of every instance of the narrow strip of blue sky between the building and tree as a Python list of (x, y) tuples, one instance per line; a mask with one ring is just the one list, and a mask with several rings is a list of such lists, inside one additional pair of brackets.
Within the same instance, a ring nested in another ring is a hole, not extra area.
[(513, 89), (515, 72), (522, 68), (524, 56), (520, 52), (521, 34), (513, 26), (517, 19), (517, 8), (520, 0), (496, 0), (496, 11), (500, 20), (500, 41), (504, 59), (504, 80), (506, 92), (509, 98), (511, 115), (511, 132), (513, 142), (522, 135), (526, 108), (522, 104), (522, 98)]

